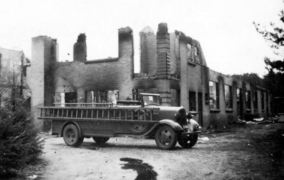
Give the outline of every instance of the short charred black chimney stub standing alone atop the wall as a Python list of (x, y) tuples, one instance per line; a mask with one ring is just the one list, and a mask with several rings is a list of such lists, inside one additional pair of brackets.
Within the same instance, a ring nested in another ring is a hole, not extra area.
[(73, 46), (73, 61), (87, 60), (87, 45), (85, 33), (78, 36), (77, 42)]

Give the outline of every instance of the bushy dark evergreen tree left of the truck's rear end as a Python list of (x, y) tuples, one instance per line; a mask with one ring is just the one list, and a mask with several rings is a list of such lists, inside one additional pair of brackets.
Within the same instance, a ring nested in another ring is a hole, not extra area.
[(16, 176), (18, 169), (41, 154), (44, 139), (33, 123), (21, 95), (20, 86), (13, 81), (0, 89), (0, 179)]

